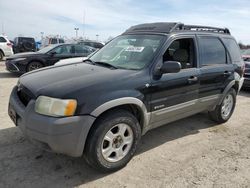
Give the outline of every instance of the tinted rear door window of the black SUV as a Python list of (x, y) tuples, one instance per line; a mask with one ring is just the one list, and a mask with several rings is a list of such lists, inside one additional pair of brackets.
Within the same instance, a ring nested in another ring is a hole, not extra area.
[(226, 49), (218, 38), (200, 37), (199, 44), (202, 66), (227, 63)]

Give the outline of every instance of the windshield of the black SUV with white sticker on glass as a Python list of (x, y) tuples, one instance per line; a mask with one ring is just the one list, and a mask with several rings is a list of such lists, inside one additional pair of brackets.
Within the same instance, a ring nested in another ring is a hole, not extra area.
[(140, 70), (147, 66), (161, 46), (161, 35), (123, 35), (115, 38), (90, 59), (117, 68)]

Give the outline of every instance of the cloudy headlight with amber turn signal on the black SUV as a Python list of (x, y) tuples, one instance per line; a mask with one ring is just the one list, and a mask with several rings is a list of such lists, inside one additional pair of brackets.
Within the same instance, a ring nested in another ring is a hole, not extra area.
[(75, 114), (77, 101), (74, 99), (56, 99), (40, 96), (36, 100), (35, 111), (39, 114), (62, 117)]

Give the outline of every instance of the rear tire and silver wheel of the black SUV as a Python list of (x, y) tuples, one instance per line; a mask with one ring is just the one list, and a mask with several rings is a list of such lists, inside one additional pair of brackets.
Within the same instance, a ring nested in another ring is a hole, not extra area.
[(231, 88), (224, 96), (222, 102), (216, 106), (215, 110), (209, 112), (210, 118), (218, 123), (227, 122), (234, 112), (235, 104), (236, 91)]

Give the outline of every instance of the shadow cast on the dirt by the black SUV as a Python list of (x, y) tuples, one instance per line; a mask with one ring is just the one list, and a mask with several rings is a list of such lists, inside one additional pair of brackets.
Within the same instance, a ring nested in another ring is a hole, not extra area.
[[(136, 155), (214, 125), (206, 114), (198, 114), (156, 128), (142, 137)], [(32, 146), (17, 127), (0, 130), (0, 153), (0, 187), (74, 187), (112, 175), (92, 169), (82, 158)]]

